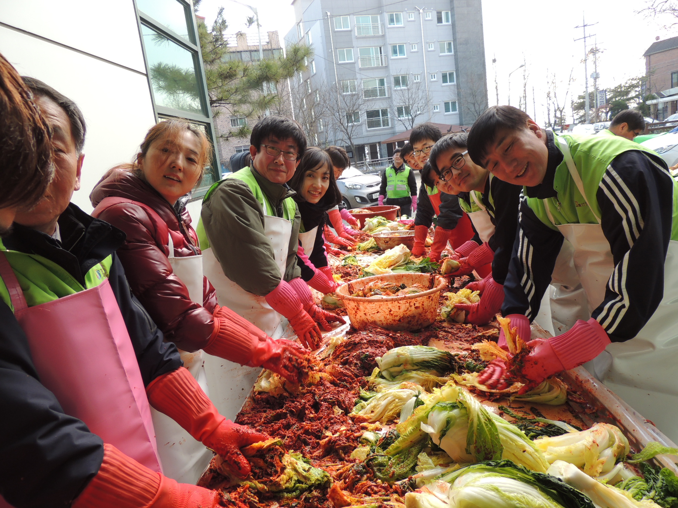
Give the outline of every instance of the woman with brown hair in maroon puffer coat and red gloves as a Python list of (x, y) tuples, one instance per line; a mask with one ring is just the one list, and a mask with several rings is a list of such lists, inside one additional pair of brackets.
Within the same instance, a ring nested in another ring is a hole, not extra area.
[[(205, 392), (203, 351), (240, 365), (264, 366), (296, 381), (294, 357), (304, 355), (300, 348), (267, 337), (235, 312), (219, 307), (212, 284), (203, 276), (184, 196), (210, 163), (212, 147), (205, 133), (186, 120), (166, 120), (151, 127), (140, 148), (134, 163), (109, 170), (90, 194), (93, 215), (127, 235), (117, 252), (134, 295), (165, 340), (180, 348), (184, 366)], [(237, 409), (228, 415), (228, 401), (213, 402), (226, 417), (235, 417)], [(164, 415), (154, 413), (154, 425), (165, 473), (195, 483), (211, 453), (205, 454), (204, 446), (192, 442)], [(181, 446), (172, 446), (176, 443)]]

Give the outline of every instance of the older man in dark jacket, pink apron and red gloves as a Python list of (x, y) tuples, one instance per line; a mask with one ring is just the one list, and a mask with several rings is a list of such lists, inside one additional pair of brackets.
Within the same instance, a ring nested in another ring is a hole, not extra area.
[(217, 492), (161, 473), (150, 407), (242, 476), (250, 465), (239, 448), (267, 436), (219, 415), (163, 342), (115, 254), (123, 232), (69, 203), (81, 112), (24, 81), (52, 127), (56, 174), (0, 242), (0, 493), (16, 507), (216, 507)]

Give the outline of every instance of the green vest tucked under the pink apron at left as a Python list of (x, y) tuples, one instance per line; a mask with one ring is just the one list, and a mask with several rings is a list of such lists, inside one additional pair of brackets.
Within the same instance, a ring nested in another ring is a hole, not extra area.
[[(113, 257), (110, 255), (100, 263), (96, 263), (85, 274), (85, 285), (83, 286), (64, 268), (46, 257), (19, 251), (8, 251), (2, 240), (0, 240), (0, 251), (4, 251), (7, 261), (16, 274), (28, 307), (41, 305), (41, 303), (97, 287), (108, 278), (113, 265)], [(7, 291), (5, 282), (1, 278), (0, 298), (14, 312), (9, 291)]]

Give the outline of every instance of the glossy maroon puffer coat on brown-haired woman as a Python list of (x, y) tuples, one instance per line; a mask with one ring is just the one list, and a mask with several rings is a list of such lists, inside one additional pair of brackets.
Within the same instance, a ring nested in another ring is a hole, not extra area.
[(157, 213), (148, 213), (138, 203), (117, 203), (95, 211), (96, 217), (127, 234), (125, 245), (117, 254), (129, 287), (161, 329), (165, 340), (188, 352), (202, 349), (214, 331), (212, 313), (217, 303), (216, 291), (205, 277), (203, 305), (191, 301), (188, 289), (174, 275), (167, 260), (168, 234), (172, 234), (176, 257), (200, 254), (191, 216), (185, 207), (176, 211), (153, 187), (124, 169), (108, 171), (89, 199), (96, 208), (111, 196), (136, 201)]

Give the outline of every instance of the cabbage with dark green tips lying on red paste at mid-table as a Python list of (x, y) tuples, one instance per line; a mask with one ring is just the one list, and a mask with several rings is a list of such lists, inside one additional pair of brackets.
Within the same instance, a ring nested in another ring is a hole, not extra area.
[(395, 347), (376, 358), (376, 361), (382, 376), (389, 381), (393, 381), (403, 371), (420, 370), (443, 375), (456, 367), (456, 358), (452, 353), (425, 345)]

